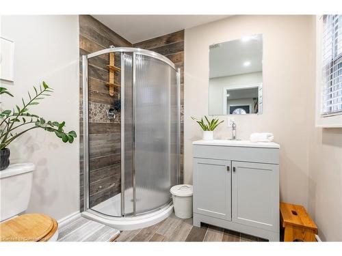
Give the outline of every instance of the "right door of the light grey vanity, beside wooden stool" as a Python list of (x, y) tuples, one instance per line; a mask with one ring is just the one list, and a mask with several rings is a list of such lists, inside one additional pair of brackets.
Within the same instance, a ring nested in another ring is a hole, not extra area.
[(232, 162), (232, 221), (279, 231), (279, 167)]

